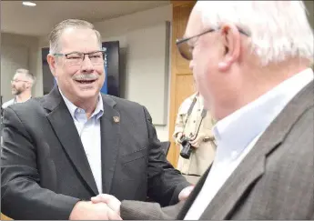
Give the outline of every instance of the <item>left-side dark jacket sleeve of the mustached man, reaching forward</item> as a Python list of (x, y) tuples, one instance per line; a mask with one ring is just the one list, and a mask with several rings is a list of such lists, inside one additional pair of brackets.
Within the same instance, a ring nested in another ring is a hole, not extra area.
[[(13, 219), (68, 219), (78, 198), (40, 186), (35, 141), (9, 106), (4, 111), (1, 209)], [(43, 172), (41, 172), (43, 173)]]

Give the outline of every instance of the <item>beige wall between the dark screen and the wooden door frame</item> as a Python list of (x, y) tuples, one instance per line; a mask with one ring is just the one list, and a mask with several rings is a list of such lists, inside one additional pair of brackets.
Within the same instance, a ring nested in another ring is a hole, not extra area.
[[(172, 21), (172, 5), (95, 24), (103, 41), (120, 42), (124, 97), (147, 106), (162, 141), (168, 140), (170, 29), (167, 43), (163, 41), (167, 21)], [(165, 46), (167, 52), (160, 50)]]

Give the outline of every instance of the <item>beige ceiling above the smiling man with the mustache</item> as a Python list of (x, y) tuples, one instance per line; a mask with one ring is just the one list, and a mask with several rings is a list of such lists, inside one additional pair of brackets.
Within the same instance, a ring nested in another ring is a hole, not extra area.
[(1, 1), (1, 32), (20, 35), (47, 35), (52, 27), (67, 18), (91, 23), (129, 15), (170, 1), (33, 1), (26, 7), (22, 1)]

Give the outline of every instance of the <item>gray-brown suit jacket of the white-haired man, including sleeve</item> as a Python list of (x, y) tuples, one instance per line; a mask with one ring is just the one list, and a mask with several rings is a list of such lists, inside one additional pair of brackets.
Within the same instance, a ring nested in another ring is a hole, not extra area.
[[(200, 219), (314, 219), (313, 87), (309, 83), (268, 126)], [(122, 218), (184, 219), (209, 169), (186, 203), (161, 208), (124, 201)]]

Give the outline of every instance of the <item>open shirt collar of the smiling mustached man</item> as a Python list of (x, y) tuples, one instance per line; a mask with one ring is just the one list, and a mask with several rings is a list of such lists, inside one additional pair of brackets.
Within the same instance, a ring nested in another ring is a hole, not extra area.
[[(79, 107), (77, 107), (76, 105), (74, 105), (71, 101), (69, 101), (65, 95), (63, 95), (62, 91), (59, 88), (59, 92), (62, 95), (62, 98), (64, 99), (67, 109), (69, 110), (71, 116), (73, 117), (73, 119), (76, 119), (76, 115), (79, 109)], [(96, 116), (96, 119), (99, 119), (99, 117), (103, 116), (104, 114), (104, 103), (103, 103), (103, 97), (102, 95), (99, 93), (98, 95), (98, 99), (97, 99), (97, 105), (95, 108), (95, 111), (93, 112), (93, 114), (90, 117)]]

